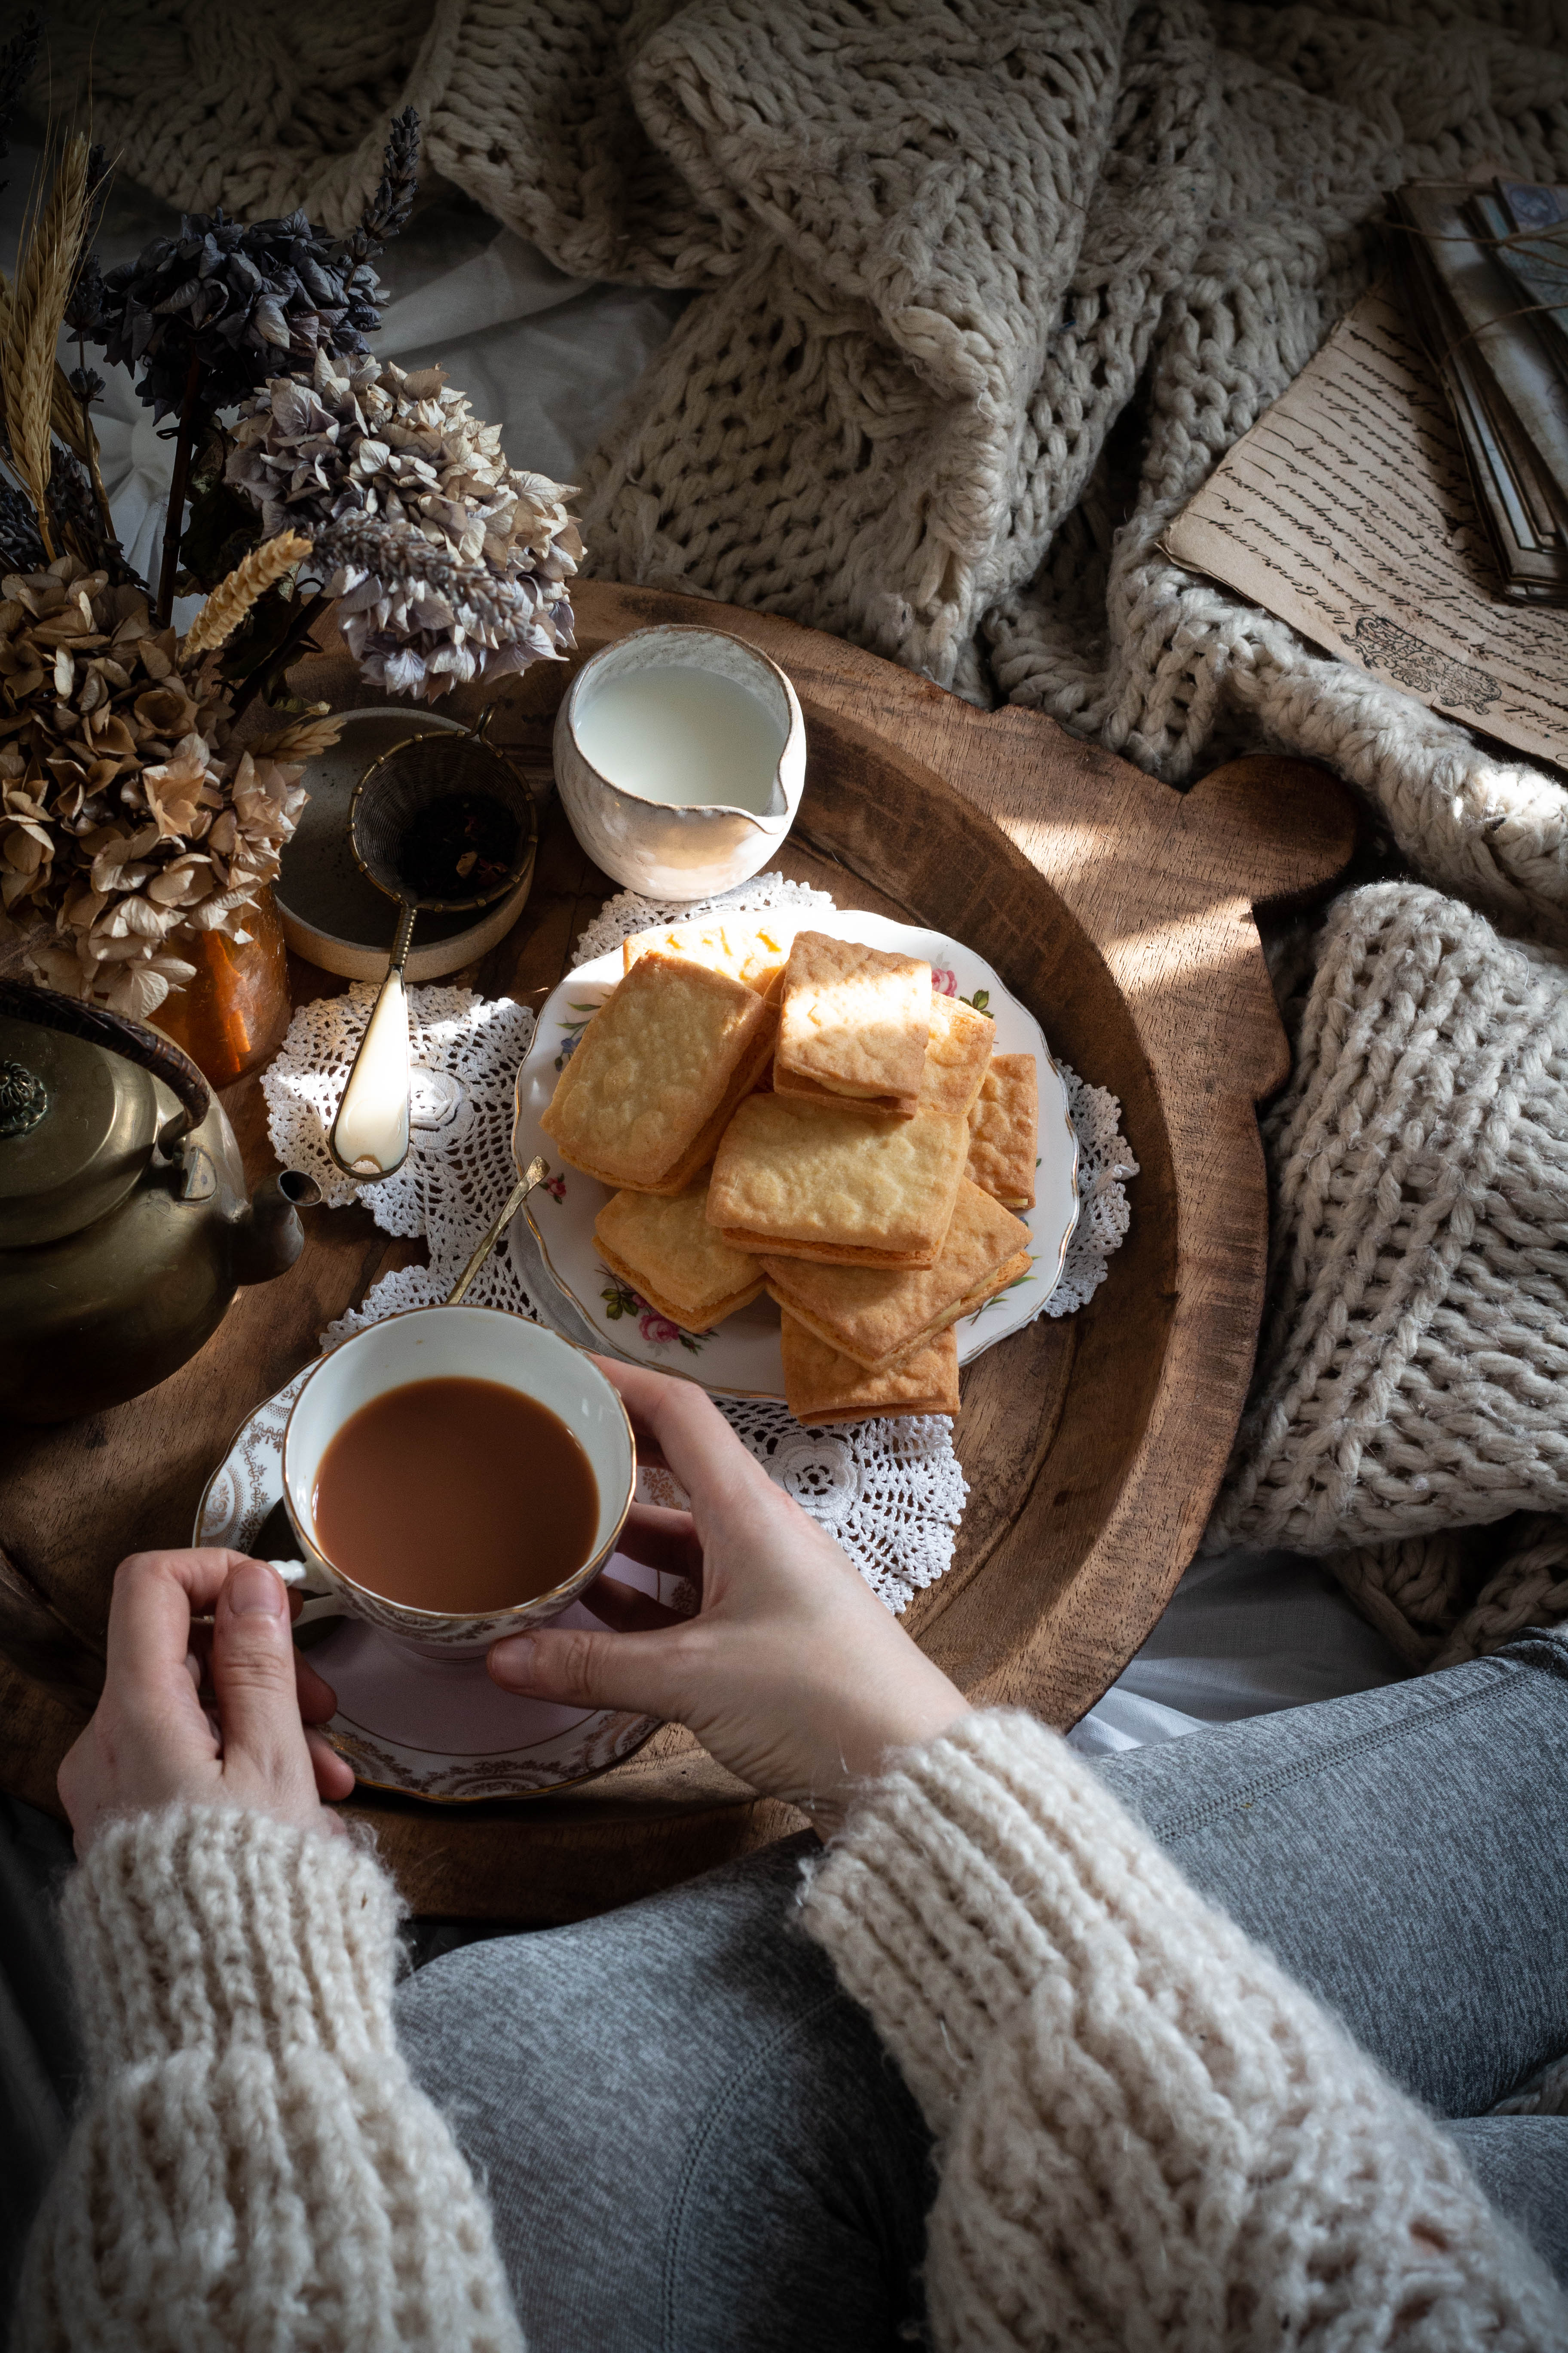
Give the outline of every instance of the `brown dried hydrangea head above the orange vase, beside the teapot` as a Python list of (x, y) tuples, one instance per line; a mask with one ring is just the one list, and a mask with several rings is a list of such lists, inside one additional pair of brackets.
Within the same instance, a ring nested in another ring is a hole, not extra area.
[(306, 720), (240, 748), (141, 588), (73, 555), (0, 581), (0, 904), (54, 918), (49, 986), (146, 1019), (195, 969), (181, 929), (247, 939), (320, 741)]

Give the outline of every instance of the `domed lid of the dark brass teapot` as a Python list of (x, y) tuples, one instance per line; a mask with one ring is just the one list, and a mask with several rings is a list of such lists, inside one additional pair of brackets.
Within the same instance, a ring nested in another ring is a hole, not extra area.
[(0, 1014), (0, 1249), (106, 1217), (148, 1165), (158, 1089), (82, 1038)]

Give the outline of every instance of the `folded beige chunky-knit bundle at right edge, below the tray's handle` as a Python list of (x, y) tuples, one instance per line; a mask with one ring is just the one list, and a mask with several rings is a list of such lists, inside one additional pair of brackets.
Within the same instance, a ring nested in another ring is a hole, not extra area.
[(1347, 892), (1265, 1144), (1269, 1308), (1206, 1544), (1568, 1508), (1568, 969), (1439, 892)]

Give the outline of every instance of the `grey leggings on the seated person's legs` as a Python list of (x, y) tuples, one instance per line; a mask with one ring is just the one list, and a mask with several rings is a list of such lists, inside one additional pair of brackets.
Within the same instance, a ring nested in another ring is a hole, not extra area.
[[(1190, 1880), (1453, 2132), (1568, 2278), (1568, 1638), (1100, 1765)], [(917, 2334), (931, 2148), (792, 1925), (795, 1840), (430, 1962), (400, 2031), (487, 2179), (529, 2353)]]

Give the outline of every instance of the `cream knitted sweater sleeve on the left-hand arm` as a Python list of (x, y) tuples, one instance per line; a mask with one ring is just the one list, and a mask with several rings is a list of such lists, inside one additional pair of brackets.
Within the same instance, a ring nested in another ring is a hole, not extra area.
[(393, 2033), (397, 1897), (348, 1838), (172, 1807), (63, 1897), (87, 2099), (14, 2353), (522, 2353), (489, 2209)]

